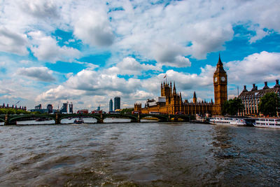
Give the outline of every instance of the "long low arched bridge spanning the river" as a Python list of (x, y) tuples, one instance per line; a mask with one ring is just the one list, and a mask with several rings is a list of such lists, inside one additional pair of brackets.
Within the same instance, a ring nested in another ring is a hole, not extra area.
[(34, 120), (38, 118), (48, 118), (55, 120), (55, 124), (61, 124), (61, 120), (64, 118), (95, 118), (97, 123), (104, 123), (105, 118), (126, 118), (130, 119), (132, 123), (141, 122), (142, 118), (158, 118), (160, 122), (176, 121), (179, 118), (183, 121), (190, 121), (194, 119), (194, 116), (188, 115), (172, 115), (172, 114), (120, 114), (120, 113), (69, 113), (69, 114), (2, 114), (0, 115), (0, 122), (4, 125), (16, 125), (17, 121), (22, 120)]

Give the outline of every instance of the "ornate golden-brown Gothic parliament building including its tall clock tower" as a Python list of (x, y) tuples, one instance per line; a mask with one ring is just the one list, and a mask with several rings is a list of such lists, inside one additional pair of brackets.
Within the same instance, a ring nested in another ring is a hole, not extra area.
[(193, 102), (183, 100), (181, 92), (176, 91), (175, 83), (167, 83), (164, 81), (160, 86), (160, 97), (148, 99), (144, 108), (141, 104), (134, 104), (134, 111), (141, 111), (141, 113), (168, 113), (168, 114), (197, 114), (202, 115), (221, 115), (223, 103), (228, 100), (228, 77), (225, 69), (223, 69), (223, 62), (219, 55), (216, 71), (213, 77), (214, 82), (214, 96), (215, 103), (211, 102), (197, 102), (197, 97), (194, 92)]

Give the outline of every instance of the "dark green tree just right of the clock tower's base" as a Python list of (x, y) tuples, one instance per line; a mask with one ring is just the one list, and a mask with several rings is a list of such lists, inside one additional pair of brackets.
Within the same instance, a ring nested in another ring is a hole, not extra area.
[(223, 104), (222, 113), (230, 114), (230, 116), (235, 116), (238, 111), (241, 111), (244, 109), (244, 104), (242, 104), (242, 100), (235, 97), (234, 99), (230, 99), (228, 101), (225, 101)]

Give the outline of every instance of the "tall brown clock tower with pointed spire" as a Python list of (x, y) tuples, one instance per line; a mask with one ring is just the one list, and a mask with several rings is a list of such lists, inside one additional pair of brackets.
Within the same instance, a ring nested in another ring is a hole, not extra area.
[(223, 103), (228, 100), (228, 77), (219, 54), (216, 71), (214, 73), (214, 95), (215, 104), (213, 109), (214, 115), (222, 114)]

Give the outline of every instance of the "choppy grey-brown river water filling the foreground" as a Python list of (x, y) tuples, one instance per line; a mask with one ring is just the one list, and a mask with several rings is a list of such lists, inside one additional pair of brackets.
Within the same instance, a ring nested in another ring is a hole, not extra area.
[(0, 186), (280, 186), (280, 130), (15, 125), (0, 137)]

